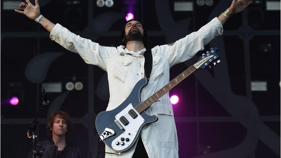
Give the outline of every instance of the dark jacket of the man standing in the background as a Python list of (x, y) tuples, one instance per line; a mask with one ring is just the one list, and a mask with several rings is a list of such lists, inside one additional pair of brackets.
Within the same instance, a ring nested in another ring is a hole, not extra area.
[[(58, 147), (55, 145), (53, 140), (50, 140), (50, 139), (43, 140), (43, 141), (37, 142), (36, 145), (45, 148), (45, 150), (43, 151), (44, 158), (53, 158), (55, 151), (56, 151), (56, 153), (58, 153), (57, 152)], [(36, 150), (42, 151), (42, 149), (38, 148), (38, 147), (36, 147)], [(66, 142), (65, 150), (66, 150), (66, 152), (64, 152), (64, 158), (81, 158), (81, 151), (78, 146), (76, 146), (70, 142)], [(32, 155), (32, 151), (29, 153), (27, 158), (31, 158), (31, 155)]]

